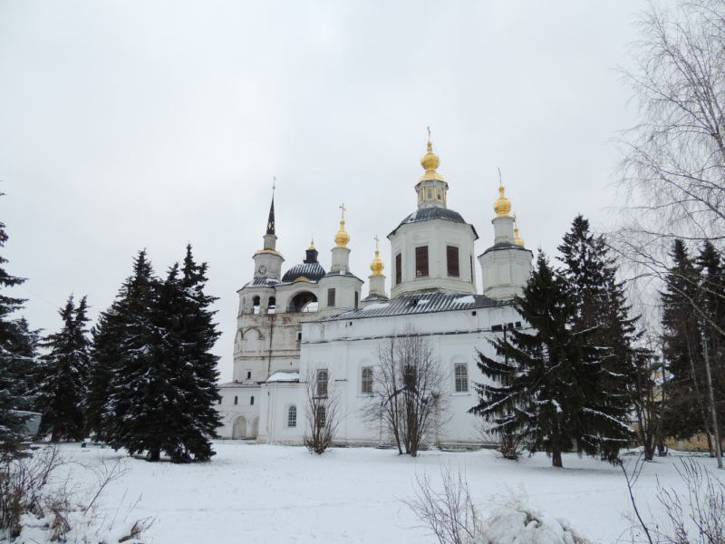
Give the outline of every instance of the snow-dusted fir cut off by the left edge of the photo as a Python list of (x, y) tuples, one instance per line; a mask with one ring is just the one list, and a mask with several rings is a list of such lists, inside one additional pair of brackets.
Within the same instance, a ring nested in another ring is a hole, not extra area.
[[(5, 246), (7, 234), (0, 223), (0, 248)], [(0, 289), (19, 286), (23, 277), (10, 276), (6, 271), (7, 260), (0, 257)], [(0, 292), (0, 452), (13, 452), (20, 441), (24, 418), (16, 411), (29, 410), (32, 398), (29, 378), (34, 372), (37, 331), (31, 331), (24, 318), (14, 317), (23, 308), (24, 299), (7, 296)]]

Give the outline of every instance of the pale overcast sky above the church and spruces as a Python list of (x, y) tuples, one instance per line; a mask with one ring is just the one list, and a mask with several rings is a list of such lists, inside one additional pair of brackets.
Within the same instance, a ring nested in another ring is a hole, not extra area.
[(427, 126), (477, 252), (493, 243), (500, 168), (527, 248), (553, 254), (577, 213), (610, 220), (607, 141), (635, 113), (614, 67), (643, 7), (4, 0), (1, 255), (29, 278), (13, 295), (46, 332), (71, 293), (95, 320), (139, 249), (163, 275), (191, 242), (219, 297), (227, 381), (273, 176), (283, 270), (312, 235), (329, 268), (344, 202), (367, 281), (375, 235), (389, 273), (385, 237), (416, 208)]

